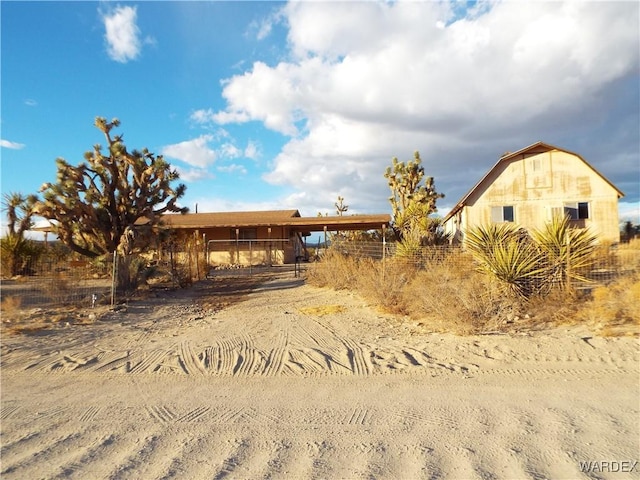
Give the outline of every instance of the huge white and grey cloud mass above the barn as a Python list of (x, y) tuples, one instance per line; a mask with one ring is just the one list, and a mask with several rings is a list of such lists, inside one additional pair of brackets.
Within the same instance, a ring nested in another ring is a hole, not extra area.
[(259, 121), (290, 137), (264, 178), (305, 192), (301, 201), (340, 193), (355, 208), (381, 199), (381, 210), (391, 157), (419, 150), (455, 203), (501, 153), (538, 140), (577, 150), (605, 174), (637, 177), (638, 128), (615, 155), (594, 132), (621, 138), (630, 122), (637, 127), (639, 10), (635, 2), (291, 2), (281, 11), (289, 59), (256, 61), (226, 79), (226, 108), (193, 118)]

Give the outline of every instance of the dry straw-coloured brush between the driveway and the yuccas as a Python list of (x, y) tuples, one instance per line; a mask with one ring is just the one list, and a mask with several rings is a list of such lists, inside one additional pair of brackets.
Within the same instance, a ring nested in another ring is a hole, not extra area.
[(310, 266), (307, 281), (351, 289), (389, 313), (422, 320), (431, 331), (471, 334), (512, 328), (524, 319), (526, 303), (474, 270), (463, 254), (452, 254), (419, 269), (394, 257), (385, 262), (329, 252)]

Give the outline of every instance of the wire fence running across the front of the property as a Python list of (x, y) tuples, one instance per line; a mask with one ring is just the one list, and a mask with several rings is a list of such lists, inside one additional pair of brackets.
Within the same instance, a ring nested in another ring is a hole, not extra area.
[[(476, 267), (470, 254), (449, 245), (407, 252), (400, 251), (395, 242), (334, 241), (328, 248), (310, 246), (303, 249), (302, 255), (296, 252), (288, 258), (283, 253), (287, 245), (286, 242), (204, 244), (186, 241), (169, 243), (148, 255), (112, 255), (92, 261), (47, 256), (26, 259), (16, 275), (9, 277), (3, 272), (0, 296), (3, 309), (9, 304), (20, 309), (113, 306), (140, 286), (176, 288), (204, 278), (253, 275), (269, 269), (282, 272), (286, 267), (291, 267), (289, 270), (298, 276), (306, 262), (322, 261), (327, 251), (383, 263), (405, 262), (407, 266), (419, 269), (429, 269), (444, 261), (450, 268), (461, 271)], [(580, 272), (583, 280), (574, 281), (574, 287), (606, 285), (625, 275), (638, 273), (640, 249), (637, 246), (600, 248)]]

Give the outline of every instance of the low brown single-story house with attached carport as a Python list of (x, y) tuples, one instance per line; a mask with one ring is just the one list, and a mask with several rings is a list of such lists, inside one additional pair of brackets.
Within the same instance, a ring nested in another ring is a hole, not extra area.
[(298, 210), (213, 212), (163, 215), (162, 225), (176, 238), (194, 238), (211, 266), (285, 264), (306, 257), (311, 232), (382, 230), (388, 214), (302, 217)]

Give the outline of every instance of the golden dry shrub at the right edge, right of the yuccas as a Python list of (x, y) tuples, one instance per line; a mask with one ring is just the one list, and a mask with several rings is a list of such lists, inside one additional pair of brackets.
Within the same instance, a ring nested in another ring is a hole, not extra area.
[(604, 335), (640, 335), (640, 274), (597, 287), (577, 316)]

